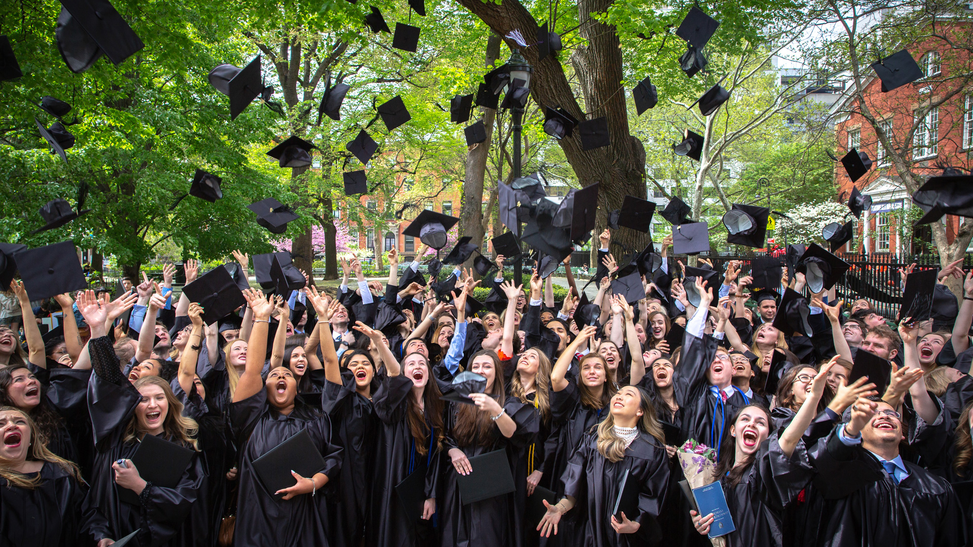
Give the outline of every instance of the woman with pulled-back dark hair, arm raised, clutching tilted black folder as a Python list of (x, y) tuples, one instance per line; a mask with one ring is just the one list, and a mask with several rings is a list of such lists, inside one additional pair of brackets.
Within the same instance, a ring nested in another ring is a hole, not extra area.
[[(342, 449), (330, 442), (328, 417), (297, 398), (297, 381), (289, 369), (276, 367), (270, 370), (266, 381), (261, 378), (272, 306), (258, 290), (249, 289), (243, 294), (253, 310), (254, 326), (246, 370), (236, 384), (234, 402), (229, 408), (240, 452), (234, 545), (327, 546), (325, 496), (316, 493), (340, 472)], [(312, 477), (292, 472), (294, 486), (268, 492), (256, 475), (253, 461), (302, 430), (307, 431), (324, 458), (324, 469)]]

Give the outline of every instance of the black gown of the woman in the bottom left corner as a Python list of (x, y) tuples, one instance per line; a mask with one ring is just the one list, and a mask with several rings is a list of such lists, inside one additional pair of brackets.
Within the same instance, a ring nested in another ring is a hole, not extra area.
[[(83, 510), (88, 486), (59, 465), (45, 462), (34, 489), (0, 479), (0, 546), (81, 547), (108, 535), (108, 523)], [(38, 473), (28, 473), (27, 478)]]

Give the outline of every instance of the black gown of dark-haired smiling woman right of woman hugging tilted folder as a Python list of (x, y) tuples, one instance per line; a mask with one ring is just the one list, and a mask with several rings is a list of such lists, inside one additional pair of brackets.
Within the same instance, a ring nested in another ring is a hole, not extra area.
[(365, 533), (377, 418), (372, 401), (355, 390), (355, 377), (342, 372), (342, 384), (325, 381), (321, 398), (342, 444), (338, 499), (329, 503), (331, 538), (335, 546), (357, 547)]

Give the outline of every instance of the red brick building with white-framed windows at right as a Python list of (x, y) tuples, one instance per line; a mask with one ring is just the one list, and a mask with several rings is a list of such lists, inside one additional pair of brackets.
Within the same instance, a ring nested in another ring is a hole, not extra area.
[[(937, 29), (949, 29), (944, 25)], [(952, 29), (956, 32), (956, 28)], [(919, 63), (924, 78), (901, 88), (882, 92), (882, 82), (874, 72), (864, 81), (865, 102), (869, 110), (881, 120), (883, 131), (889, 134), (893, 148), (905, 150), (912, 161), (913, 171), (920, 177), (941, 172), (936, 164), (957, 167), (971, 166), (973, 152), (973, 89), (957, 91), (953, 80), (956, 74), (970, 71), (968, 53), (950, 49), (943, 41), (930, 39), (910, 46), (909, 51)], [(910, 193), (900, 179), (888, 154), (883, 150), (874, 128), (858, 114), (857, 98), (850, 94), (832, 107), (835, 115), (837, 153), (841, 157), (851, 148), (868, 153), (874, 162), (872, 169), (859, 178), (854, 186), (872, 197), (872, 207), (855, 222), (855, 237), (842, 249), (845, 253), (913, 254), (929, 251), (931, 231), (919, 227), (915, 234), (909, 216), (912, 204)], [(916, 109), (938, 102), (955, 92), (946, 102), (916, 117)], [(915, 128), (915, 130), (914, 130)], [(912, 132), (913, 134), (909, 134)], [(835, 166), (835, 183), (839, 199), (847, 201), (852, 183), (842, 164)], [(915, 213), (912, 213), (915, 216)], [(918, 217), (917, 217), (918, 218)], [(947, 235), (952, 241), (961, 220), (953, 215), (944, 217)], [(916, 243), (915, 239), (921, 242)]]

